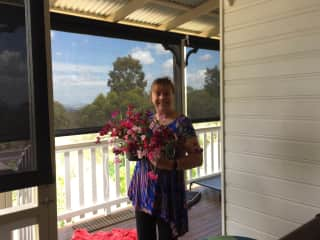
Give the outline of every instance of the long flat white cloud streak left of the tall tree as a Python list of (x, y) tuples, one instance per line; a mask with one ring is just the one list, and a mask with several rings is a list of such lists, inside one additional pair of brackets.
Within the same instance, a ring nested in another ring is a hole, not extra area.
[(53, 62), (52, 68), (54, 72), (65, 72), (65, 73), (101, 73), (106, 74), (110, 71), (109, 66), (103, 65), (87, 65), (87, 64), (73, 64), (73, 63), (62, 63)]

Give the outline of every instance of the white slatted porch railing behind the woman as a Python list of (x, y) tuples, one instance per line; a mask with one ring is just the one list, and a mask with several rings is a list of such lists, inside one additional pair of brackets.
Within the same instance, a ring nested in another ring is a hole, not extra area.
[[(186, 183), (221, 171), (220, 127), (197, 128), (196, 132), (204, 150), (203, 164), (186, 171)], [(79, 221), (130, 205), (127, 189), (134, 165), (127, 160), (115, 163), (108, 141), (56, 146), (59, 240), (71, 239), (72, 225)]]

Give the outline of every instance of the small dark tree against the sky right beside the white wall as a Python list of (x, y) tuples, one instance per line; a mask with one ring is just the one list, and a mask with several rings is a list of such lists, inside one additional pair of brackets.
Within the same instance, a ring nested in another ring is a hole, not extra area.
[(217, 65), (206, 69), (204, 81), (205, 90), (212, 96), (219, 96), (220, 71)]

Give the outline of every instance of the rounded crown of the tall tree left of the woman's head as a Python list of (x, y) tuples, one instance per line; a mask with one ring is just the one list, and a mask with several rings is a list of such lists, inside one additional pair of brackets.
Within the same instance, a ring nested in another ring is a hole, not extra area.
[(139, 60), (131, 55), (118, 57), (109, 72), (108, 86), (116, 93), (126, 92), (133, 88), (144, 90), (147, 81)]

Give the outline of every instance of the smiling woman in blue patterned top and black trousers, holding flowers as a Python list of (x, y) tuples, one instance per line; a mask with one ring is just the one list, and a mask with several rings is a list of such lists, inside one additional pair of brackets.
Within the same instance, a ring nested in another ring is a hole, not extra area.
[[(139, 240), (178, 239), (188, 231), (184, 170), (200, 166), (202, 153), (189, 118), (174, 110), (174, 86), (169, 78), (158, 78), (151, 85), (155, 108), (152, 120), (172, 129), (181, 143), (175, 158), (138, 161), (128, 190), (136, 209)], [(152, 166), (153, 165), (153, 166)], [(148, 172), (157, 168), (156, 180)]]

